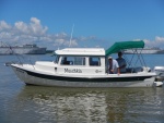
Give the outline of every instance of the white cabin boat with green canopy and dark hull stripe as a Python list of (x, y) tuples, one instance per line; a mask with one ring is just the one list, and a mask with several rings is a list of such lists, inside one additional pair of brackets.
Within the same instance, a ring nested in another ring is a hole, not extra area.
[[(144, 42), (116, 42), (109, 49), (66, 48), (56, 50), (55, 61), (35, 64), (12, 63), (17, 77), (25, 84), (62, 87), (152, 87), (155, 72), (147, 67), (127, 67), (125, 74), (108, 74), (107, 57), (124, 49), (142, 48)], [(65, 62), (67, 58), (67, 62)]]

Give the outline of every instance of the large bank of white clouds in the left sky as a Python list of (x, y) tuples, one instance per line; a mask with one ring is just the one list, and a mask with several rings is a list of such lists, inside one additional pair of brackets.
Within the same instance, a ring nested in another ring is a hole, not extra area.
[(37, 44), (47, 49), (65, 48), (70, 45), (71, 47), (84, 47), (83, 44), (86, 44), (86, 47), (98, 46), (95, 36), (72, 37), (70, 44), (70, 35), (65, 32), (48, 34), (48, 27), (43, 26), (40, 20), (36, 17), (31, 17), (30, 23), (19, 21), (13, 25), (0, 21), (0, 41), (9, 45)]

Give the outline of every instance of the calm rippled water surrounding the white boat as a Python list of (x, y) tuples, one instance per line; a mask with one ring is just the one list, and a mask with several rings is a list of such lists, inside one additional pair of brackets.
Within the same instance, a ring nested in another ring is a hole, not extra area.
[[(26, 57), (25, 57), (26, 58)], [(49, 56), (27, 56), (50, 60)], [(28, 60), (28, 59), (27, 59)], [(153, 67), (164, 54), (147, 54)], [(0, 123), (163, 123), (164, 87), (61, 88), (25, 86), (0, 56)], [(30, 62), (30, 61), (28, 61)]]

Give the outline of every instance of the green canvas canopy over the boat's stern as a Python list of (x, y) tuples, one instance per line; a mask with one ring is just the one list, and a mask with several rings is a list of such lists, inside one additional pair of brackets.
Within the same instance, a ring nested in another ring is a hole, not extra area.
[(110, 48), (105, 51), (105, 56), (116, 53), (120, 50), (132, 49), (132, 48), (144, 48), (144, 41), (119, 41), (115, 42)]

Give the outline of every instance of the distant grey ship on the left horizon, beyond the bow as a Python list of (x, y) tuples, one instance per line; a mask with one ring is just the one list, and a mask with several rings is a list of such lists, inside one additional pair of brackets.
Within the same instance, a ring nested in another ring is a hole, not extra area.
[(0, 54), (45, 54), (46, 48), (34, 45), (7, 46), (0, 45)]

